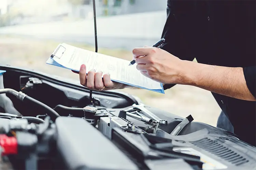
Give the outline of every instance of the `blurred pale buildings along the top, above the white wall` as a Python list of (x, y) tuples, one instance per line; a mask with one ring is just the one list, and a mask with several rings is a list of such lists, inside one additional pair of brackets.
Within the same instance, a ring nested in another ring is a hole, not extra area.
[[(96, 15), (166, 10), (167, 0), (95, 0)], [(4, 26), (93, 18), (93, 0), (0, 0)], [(1, 15), (2, 14), (2, 15)]]

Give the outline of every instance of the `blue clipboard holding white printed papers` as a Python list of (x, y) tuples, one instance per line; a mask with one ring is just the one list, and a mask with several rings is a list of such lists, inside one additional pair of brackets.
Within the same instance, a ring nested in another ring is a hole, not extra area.
[(145, 77), (136, 69), (136, 64), (128, 66), (130, 61), (101, 53), (77, 48), (65, 43), (59, 44), (46, 61), (47, 64), (79, 71), (82, 64), (86, 72), (96, 69), (103, 74), (109, 73), (112, 81), (147, 89), (164, 94), (163, 85)]

